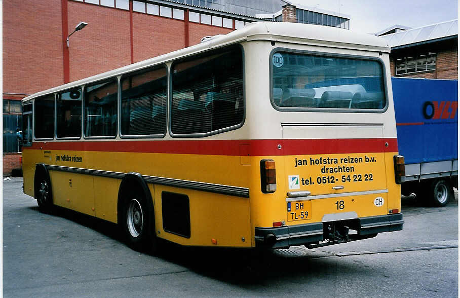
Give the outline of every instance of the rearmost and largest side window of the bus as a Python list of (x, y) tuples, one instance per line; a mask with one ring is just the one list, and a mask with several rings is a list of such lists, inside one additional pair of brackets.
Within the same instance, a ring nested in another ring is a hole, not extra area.
[[(199, 134), (243, 122), (243, 55), (239, 47), (175, 63), (172, 73), (173, 134)], [(193, 93), (193, 97), (183, 98)]]

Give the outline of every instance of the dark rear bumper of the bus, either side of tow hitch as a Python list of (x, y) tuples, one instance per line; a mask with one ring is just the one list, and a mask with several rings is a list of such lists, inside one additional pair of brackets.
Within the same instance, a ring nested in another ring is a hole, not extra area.
[[(402, 230), (402, 213), (361, 217), (356, 219), (358, 237), (382, 232)], [(255, 228), (256, 247), (286, 248), (291, 245), (305, 245), (324, 240), (323, 222), (279, 228)]]

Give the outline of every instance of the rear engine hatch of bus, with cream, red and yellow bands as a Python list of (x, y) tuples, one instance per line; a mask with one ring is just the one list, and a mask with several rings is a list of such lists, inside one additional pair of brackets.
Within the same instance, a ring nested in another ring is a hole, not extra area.
[(383, 124), (282, 124), (287, 225), (386, 214), (382, 131)]

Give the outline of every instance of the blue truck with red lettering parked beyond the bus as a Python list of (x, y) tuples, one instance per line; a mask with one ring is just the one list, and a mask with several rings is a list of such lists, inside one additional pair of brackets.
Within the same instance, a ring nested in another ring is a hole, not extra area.
[(392, 89), (405, 159), (401, 192), (445, 206), (458, 188), (458, 81), (393, 77)]

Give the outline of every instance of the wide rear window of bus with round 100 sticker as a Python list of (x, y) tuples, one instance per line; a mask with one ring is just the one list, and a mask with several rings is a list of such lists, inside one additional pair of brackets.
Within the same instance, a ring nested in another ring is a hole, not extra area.
[(272, 101), (281, 110), (382, 110), (384, 70), (377, 60), (276, 52)]

